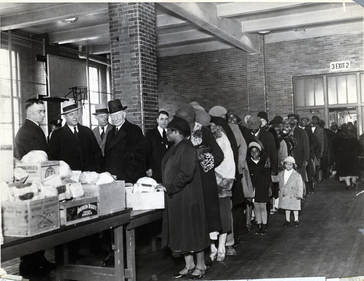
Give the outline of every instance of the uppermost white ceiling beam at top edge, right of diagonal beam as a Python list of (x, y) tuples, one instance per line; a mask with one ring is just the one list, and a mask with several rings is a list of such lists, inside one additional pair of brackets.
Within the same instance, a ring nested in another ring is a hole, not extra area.
[(306, 5), (307, 3), (297, 3), (297, 2), (271, 2), (271, 3), (244, 3), (241, 2), (231, 2), (218, 4), (218, 17), (228, 18), (234, 16), (245, 15), (249, 13), (256, 12), (269, 12), (282, 8), (291, 8), (301, 5)]

